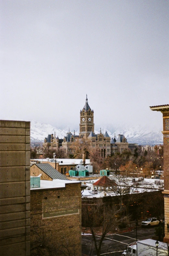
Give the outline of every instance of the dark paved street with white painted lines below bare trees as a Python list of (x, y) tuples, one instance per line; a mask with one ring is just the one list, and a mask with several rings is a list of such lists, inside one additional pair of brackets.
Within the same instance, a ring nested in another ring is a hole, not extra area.
[[(154, 227), (137, 229), (138, 240), (151, 238), (154, 235)], [(99, 239), (99, 237), (98, 237)], [(129, 243), (136, 241), (136, 229), (114, 235), (107, 235), (103, 240), (101, 255), (105, 256), (121, 256)], [(155, 243), (155, 241), (154, 241)], [(82, 253), (88, 256), (95, 256), (96, 250), (94, 247), (92, 236), (82, 236)]]

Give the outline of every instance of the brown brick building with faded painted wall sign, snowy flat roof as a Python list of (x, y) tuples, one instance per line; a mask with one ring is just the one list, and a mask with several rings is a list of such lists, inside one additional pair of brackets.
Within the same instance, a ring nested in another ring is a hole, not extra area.
[[(43, 248), (81, 255), (81, 182), (41, 180), (40, 188), (30, 189), (30, 242), (35, 251)], [(61, 254), (56, 254), (61, 255)]]

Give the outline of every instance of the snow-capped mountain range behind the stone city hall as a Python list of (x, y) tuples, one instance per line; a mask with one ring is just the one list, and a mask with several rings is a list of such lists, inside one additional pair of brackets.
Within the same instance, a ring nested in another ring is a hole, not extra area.
[[(50, 124), (45, 124), (38, 121), (31, 121), (30, 126), (30, 138), (31, 142), (42, 142), (48, 134), (56, 134), (60, 139), (63, 138), (68, 130), (65, 128), (63, 130), (53, 127)], [(99, 127), (96, 127), (95, 134), (100, 133)], [(75, 130), (75, 134), (78, 135), (78, 128)], [(129, 143), (138, 143), (139, 145), (156, 145), (156, 144), (163, 144), (163, 135), (160, 130), (154, 131), (152, 129), (148, 129), (146, 127), (119, 127), (113, 128), (110, 125), (104, 126), (101, 130), (102, 133), (107, 133), (109, 136), (114, 138), (114, 136), (118, 137), (118, 134), (123, 134)], [(70, 132), (74, 133), (74, 131)]]

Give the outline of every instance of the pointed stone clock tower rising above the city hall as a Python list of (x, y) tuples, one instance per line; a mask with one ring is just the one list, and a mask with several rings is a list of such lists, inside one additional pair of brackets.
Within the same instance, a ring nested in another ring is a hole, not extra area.
[(80, 110), (80, 124), (79, 124), (79, 137), (85, 138), (89, 136), (91, 131), (94, 133), (94, 111), (91, 110), (88, 104), (88, 98), (86, 94), (86, 104), (82, 110)]

